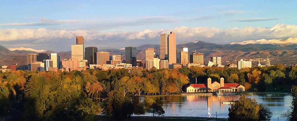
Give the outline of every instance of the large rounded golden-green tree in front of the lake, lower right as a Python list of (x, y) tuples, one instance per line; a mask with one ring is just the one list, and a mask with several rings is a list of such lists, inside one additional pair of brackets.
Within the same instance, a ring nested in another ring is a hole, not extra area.
[(259, 117), (260, 106), (255, 99), (246, 98), (240, 95), (240, 98), (229, 108), (229, 121), (257, 121)]

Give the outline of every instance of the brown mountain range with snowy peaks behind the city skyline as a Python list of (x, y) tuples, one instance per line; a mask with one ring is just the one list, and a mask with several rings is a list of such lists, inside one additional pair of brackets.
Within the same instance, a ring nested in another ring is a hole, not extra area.
[[(297, 38), (289, 37), (286, 39), (260, 39), (248, 40), (243, 42), (233, 42), (231, 44), (214, 44), (202, 41), (194, 41), (187, 44), (177, 44), (176, 47), (188, 47), (189, 53), (199, 52), (204, 53), (205, 58), (212, 56), (222, 56), (223, 58), (259, 58), (265, 56), (297, 56)], [(144, 61), (146, 48), (154, 48), (157, 55), (159, 55), (160, 45), (145, 44), (137, 47), (137, 59)], [(43, 51), (43, 50), (37, 50)], [(0, 65), (11, 65), (18, 63), (18, 65), (27, 64), (27, 54), (39, 53), (31, 48), (15, 49), (13, 51), (0, 45)], [(125, 50), (123, 49), (102, 49), (98, 52), (110, 52), (110, 55), (122, 55), (122, 60), (125, 58)], [(42, 53), (56, 53), (54, 51), (44, 51)], [(71, 58), (71, 51), (58, 52), (61, 60), (64, 58)]]

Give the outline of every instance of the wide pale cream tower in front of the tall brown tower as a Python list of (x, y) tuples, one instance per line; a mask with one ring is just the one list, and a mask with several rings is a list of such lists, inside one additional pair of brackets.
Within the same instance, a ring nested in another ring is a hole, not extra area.
[(71, 45), (71, 58), (84, 60), (84, 44)]

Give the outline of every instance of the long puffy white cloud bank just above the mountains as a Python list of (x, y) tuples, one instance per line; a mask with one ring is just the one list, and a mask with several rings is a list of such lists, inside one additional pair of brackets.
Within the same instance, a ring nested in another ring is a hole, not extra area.
[[(161, 33), (174, 31), (177, 37), (177, 43), (192, 42), (201, 40), (205, 42), (227, 44), (231, 42), (241, 42), (251, 39), (280, 39), (286, 37), (296, 37), (297, 26), (277, 24), (271, 28), (246, 27), (246, 28), (208, 28), (208, 27), (186, 27), (181, 26), (173, 29), (146, 29), (143, 31), (128, 32), (101, 32), (99, 30), (47, 30), (39, 29), (2, 29), (0, 30), (0, 42), (18, 42), (20, 44), (28, 42), (64, 42), (74, 39), (75, 36), (84, 36), (86, 42), (104, 41), (110, 46), (125, 46), (135, 44), (157, 44)], [(138, 41), (139, 40), (139, 41)], [(140, 41), (145, 40), (145, 41)], [(93, 42), (93, 43), (94, 43)], [(123, 45), (115, 45), (113, 42), (121, 42)], [(4, 43), (5, 44), (5, 43)], [(46, 48), (45, 48), (46, 49)]]

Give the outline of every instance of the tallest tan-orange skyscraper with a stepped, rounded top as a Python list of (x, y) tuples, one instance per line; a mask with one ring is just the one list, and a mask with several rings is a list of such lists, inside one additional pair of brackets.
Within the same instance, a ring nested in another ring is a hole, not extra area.
[(168, 62), (169, 64), (176, 63), (176, 36), (174, 32), (168, 35)]

